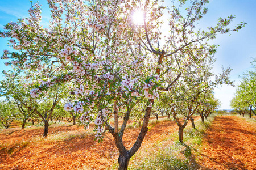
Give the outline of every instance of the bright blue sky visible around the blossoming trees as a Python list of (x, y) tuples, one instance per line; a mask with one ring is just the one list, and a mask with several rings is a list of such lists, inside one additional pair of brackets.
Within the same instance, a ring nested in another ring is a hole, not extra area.
[[(33, 3), (36, 1), (33, 1)], [(28, 0), (12, 0), (3, 1), (0, 0), (0, 30), (3, 30), (3, 26), (10, 21), (15, 22), (18, 18), (28, 16), (28, 9), (31, 7), (31, 3)], [(39, 4), (42, 4), (42, 24), (47, 24), (49, 19), (48, 5), (46, 0), (39, 0)], [(206, 28), (207, 26), (215, 25), (217, 18), (225, 18), (229, 15), (236, 15), (233, 20), (233, 26), (246, 22), (247, 25), (239, 32), (233, 32), (229, 35), (219, 35), (217, 39), (212, 41), (213, 44), (220, 45), (217, 49), (216, 58), (217, 61), (214, 64), (214, 72), (219, 73), (221, 67), (232, 67), (232, 73), (230, 79), (235, 81), (235, 84), (240, 84), (240, 76), (251, 68), (250, 57), (256, 57), (256, 1), (255, 0), (210, 0), (207, 5), (208, 13), (201, 20), (200, 28)], [(4, 49), (8, 49), (6, 39), (0, 38), (0, 56), (3, 54)], [(8, 70), (10, 67), (6, 67), (3, 64), (4, 61), (0, 61), (0, 72), (2, 70)], [(1, 78), (0, 78), (1, 79)], [(222, 105), (220, 109), (230, 109), (229, 103), (232, 99), (236, 87), (222, 86), (216, 88), (215, 96), (220, 99)]]

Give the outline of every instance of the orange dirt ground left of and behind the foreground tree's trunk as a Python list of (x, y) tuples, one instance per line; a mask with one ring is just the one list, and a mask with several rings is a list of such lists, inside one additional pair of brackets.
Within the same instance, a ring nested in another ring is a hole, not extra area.
[[(195, 120), (198, 118), (195, 117)], [(139, 150), (178, 130), (174, 121), (149, 125), (149, 129)], [(81, 135), (60, 140), (42, 137), (35, 140), (36, 136), (42, 136), (43, 129), (14, 128), (1, 131), (0, 169), (107, 169), (117, 163), (119, 154), (111, 134), (106, 133), (104, 141), (98, 143), (93, 141), (92, 129), (85, 131), (73, 125), (50, 127), (48, 137), (54, 137), (53, 134), (61, 131), (73, 131)], [(124, 145), (130, 148), (138, 134), (137, 128), (126, 129)], [(5, 147), (5, 143), (9, 143), (8, 147)]]

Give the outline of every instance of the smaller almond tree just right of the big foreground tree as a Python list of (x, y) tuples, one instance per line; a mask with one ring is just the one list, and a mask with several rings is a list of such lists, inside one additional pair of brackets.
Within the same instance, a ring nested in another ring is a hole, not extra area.
[[(230, 82), (228, 79), (231, 71), (230, 68), (223, 70), (220, 75), (214, 75), (211, 72), (213, 62), (214, 59), (209, 57), (200, 69), (197, 69), (194, 65), (189, 65), (187, 72), (175, 83), (172, 91), (165, 92), (161, 96), (162, 102), (169, 105), (172, 110), (172, 116), (177, 126), (179, 126), (180, 142), (183, 142), (183, 130), (189, 120), (192, 121), (193, 125), (192, 116), (202, 104), (198, 102), (200, 97), (219, 84), (233, 85), (233, 82)], [(215, 79), (213, 80), (214, 76)], [(178, 114), (184, 116), (185, 121), (183, 123), (179, 119)], [(195, 125), (193, 125), (193, 128), (195, 128)]]

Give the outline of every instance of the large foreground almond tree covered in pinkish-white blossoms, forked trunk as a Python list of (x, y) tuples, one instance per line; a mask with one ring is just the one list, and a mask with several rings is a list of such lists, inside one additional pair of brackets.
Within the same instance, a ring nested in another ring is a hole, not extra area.
[[(172, 2), (172, 1), (171, 1)], [(41, 69), (43, 65), (62, 75), (50, 80), (46, 86), (35, 88), (36, 97), (55, 83), (76, 84), (75, 103), (66, 104), (67, 111), (81, 113), (85, 125), (94, 121), (96, 137), (101, 141), (104, 127), (112, 133), (120, 156), (119, 169), (127, 169), (129, 159), (141, 146), (147, 133), (148, 120), (159, 90), (169, 91), (172, 84), (191, 63), (201, 61), (213, 53), (214, 46), (207, 39), (217, 33), (228, 33), (226, 28), (233, 16), (218, 19), (209, 31), (196, 31), (195, 25), (207, 12), (207, 1), (191, 1), (191, 7), (181, 16), (181, 6), (164, 7), (159, 1), (59, 1), (48, 0), (51, 10), (49, 28), (40, 25), (40, 6), (29, 10), (30, 17), (6, 25), (2, 37), (10, 37), (10, 46), (19, 52), (5, 51), (3, 59), (11, 59), (20, 69)], [(189, 2), (187, 2), (189, 3)], [(168, 13), (169, 12), (169, 13)], [(142, 22), (133, 16), (142, 14)], [(168, 20), (168, 35), (162, 35), (162, 19)], [(238, 31), (241, 23), (233, 31)], [(205, 55), (203, 55), (205, 54)], [(55, 67), (52, 67), (55, 65)], [(133, 147), (123, 146), (123, 133), (131, 109), (144, 97), (147, 107), (143, 125)], [(118, 128), (118, 108), (125, 106), (121, 129)], [(109, 118), (114, 113), (114, 125)]]

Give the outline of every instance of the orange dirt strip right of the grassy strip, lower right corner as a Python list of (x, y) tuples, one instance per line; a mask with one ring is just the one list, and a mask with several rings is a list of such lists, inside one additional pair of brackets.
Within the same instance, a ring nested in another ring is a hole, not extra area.
[(256, 126), (237, 116), (217, 116), (207, 129), (201, 169), (256, 169)]

